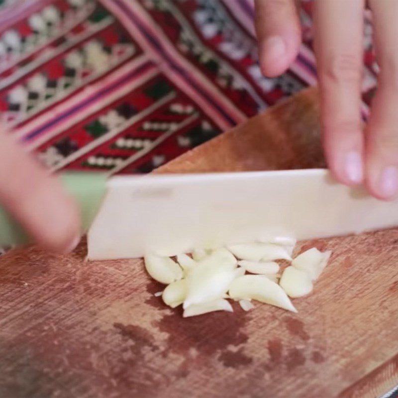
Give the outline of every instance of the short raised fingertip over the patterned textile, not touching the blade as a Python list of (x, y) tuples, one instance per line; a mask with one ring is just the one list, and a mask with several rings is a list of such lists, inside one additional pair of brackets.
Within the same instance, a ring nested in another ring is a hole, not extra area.
[(256, 0), (255, 6), (261, 70), (275, 77), (289, 68), (301, 44), (296, 4), (293, 0)]

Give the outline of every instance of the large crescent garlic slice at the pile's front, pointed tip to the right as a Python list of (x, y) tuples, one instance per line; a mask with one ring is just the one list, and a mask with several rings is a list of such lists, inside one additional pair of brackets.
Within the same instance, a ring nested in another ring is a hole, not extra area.
[(297, 312), (285, 291), (263, 275), (243, 275), (232, 281), (229, 296), (237, 299), (255, 299)]

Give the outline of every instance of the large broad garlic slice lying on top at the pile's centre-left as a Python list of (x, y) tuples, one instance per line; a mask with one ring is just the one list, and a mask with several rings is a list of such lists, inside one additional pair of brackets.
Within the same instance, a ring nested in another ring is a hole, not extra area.
[(217, 264), (200, 264), (187, 275), (187, 297), (183, 308), (222, 298), (231, 282), (241, 276), (241, 270), (228, 270)]

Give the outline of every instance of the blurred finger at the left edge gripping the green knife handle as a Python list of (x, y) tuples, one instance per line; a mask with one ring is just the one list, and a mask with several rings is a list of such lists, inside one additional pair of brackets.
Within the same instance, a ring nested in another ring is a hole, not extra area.
[(68, 252), (80, 238), (80, 217), (60, 183), (6, 133), (0, 134), (0, 201), (37, 243)]

